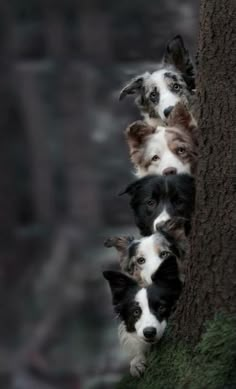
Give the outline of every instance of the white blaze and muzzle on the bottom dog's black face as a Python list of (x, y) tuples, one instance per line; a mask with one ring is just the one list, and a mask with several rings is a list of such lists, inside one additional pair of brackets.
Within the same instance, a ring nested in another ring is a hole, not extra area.
[(147, 327), (154, 327), (156, 329), (156, 338), (155, 340), (159, 340), (166, 328), (166, 321), (163, 320), (159, 322), (159, 320), (154, 316), (154, 314), (150, 311), (148, 304), (148, 296), (147, 289), (142, 288), (135, 296), (135, 301), (139, 304), (141, 308), (142, 314), (138, 321), (135, 323), (135, 329), (139, 338), (145, 340), (143, 330)]

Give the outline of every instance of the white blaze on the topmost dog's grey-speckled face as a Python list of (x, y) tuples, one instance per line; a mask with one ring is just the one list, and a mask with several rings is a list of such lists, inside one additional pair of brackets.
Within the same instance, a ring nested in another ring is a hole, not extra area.
[(178, 95), (169, 90), (164, 77), (166, 72), (166, 69), (157, 70), (150, 76), (150, 82), (157, 86), (158, 92), (160, 94), (156, 109), (160, 118), (164, 121), (166, 120), (164, 110), (168, 107), (174, 107), (181, 100)]

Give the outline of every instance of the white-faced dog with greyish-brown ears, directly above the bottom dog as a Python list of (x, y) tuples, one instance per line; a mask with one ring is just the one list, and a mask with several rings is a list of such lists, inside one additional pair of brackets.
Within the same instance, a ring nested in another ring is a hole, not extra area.
[(119, 236), (107, 239), (105, 247), (115, 247), (119, 254), (121, 270), (133, 276), (140, 285), (150, 285), (152, 275), (161, 263), (174, 256), (181, 271), (188, 252), (188, 240), (184, 230), (185, 220), (175, 218), (157, 227), (150, 236), (135, 239)]

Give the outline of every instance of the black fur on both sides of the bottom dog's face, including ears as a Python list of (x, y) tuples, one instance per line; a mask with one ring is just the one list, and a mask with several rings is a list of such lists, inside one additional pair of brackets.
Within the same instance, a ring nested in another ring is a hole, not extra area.
[[(103, 275), (111, 288), (115, 312), (125, 323), (127, 331), (134, 332), (134, 325), (141, 315), (141, 310), (137, 315), (140, 308), (135, 296), (141, 287), (131, 277), (120, 272), (105, 271)], [(152, 278), (153, 283), (146, 288), (148, 304), (152, 313), (161, 322), (170, 316), (182, 290), (176, 258), (174, 256), (167, 258)]]

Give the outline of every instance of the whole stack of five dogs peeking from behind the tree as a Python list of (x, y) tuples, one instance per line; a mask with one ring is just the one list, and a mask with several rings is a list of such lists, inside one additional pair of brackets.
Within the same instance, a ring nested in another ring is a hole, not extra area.
[(103, 275), (120, 319), (119, 338), (130, 356), (130, 373), (139, 377), (183, 287), (194, 209), (194, 68), (180, 36), (167, 44), (157, 70), (131, 80), (120, 99), (128, 95), (135, 96), (143, 120), (125, 130), (137, 180), (121, 194), (130, 196), (142, 237), (107, 239), (105, 246), (119, 254), (121, 272)]

